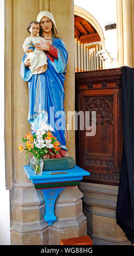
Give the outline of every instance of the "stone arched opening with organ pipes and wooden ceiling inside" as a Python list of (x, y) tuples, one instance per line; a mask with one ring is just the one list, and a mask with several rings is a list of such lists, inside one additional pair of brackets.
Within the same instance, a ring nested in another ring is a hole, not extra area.
[(98, 52), (104, 48), (104, 33), (86, 10), (74, 5), (75, 72), (104, 68)]

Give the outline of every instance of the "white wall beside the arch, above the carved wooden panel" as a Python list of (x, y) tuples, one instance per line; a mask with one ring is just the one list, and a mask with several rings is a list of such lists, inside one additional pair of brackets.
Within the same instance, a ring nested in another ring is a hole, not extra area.
[(99, 23), (104, 32), (105, 48), (113, 59), (111, 64), (106, 64), (105, 68), (117, 68), (117, 29), (105, 31), (107, 23), (116, 23), (116, 0), (74, 0), (74, 5), (85, 9)]

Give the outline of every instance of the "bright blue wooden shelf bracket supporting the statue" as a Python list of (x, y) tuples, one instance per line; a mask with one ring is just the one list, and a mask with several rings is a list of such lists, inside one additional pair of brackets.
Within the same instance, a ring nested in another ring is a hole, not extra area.
[(60, 192), (66, 187), (78, 185), (83, 176), (90, 175), (89, 172), (78, 166), (69, 170), (44, 171), (41, 175), (36, 175), (29, 165), (23, 168), (36, 190), (41, 190), (43, 193), (45, 201), (44, 220), (48, 225), (52, 225), (56, 221), (54, 206)]

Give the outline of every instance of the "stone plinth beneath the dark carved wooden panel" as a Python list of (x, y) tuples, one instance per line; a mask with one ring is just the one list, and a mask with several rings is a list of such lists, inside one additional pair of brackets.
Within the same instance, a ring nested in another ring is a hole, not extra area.
[(83, 211), (93, 245), (130, 245), (116, 223), (118, 186), (80, 182), (79, 188), (84, 193)]

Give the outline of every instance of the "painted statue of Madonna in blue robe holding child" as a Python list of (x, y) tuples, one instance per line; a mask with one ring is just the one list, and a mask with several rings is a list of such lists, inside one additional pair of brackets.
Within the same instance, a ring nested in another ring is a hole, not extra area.
[(43, 122), (53, 127), (54, 136), (58, 138), (61, 148), (59, 154), (55, 153), (54, 156), (48, 153), (46, 158), (69, 156), (63, 106), (68, 58), (66, 46), (56, 29), (53, 14), (49, 11), (41, 11), (37, 20), (29, 23), (27, 31), (30, 36), (23, 44), (25, 54), (21, 63), (21, 77), (28, 82), (28, 122), (33, 131), (38, 130)]

